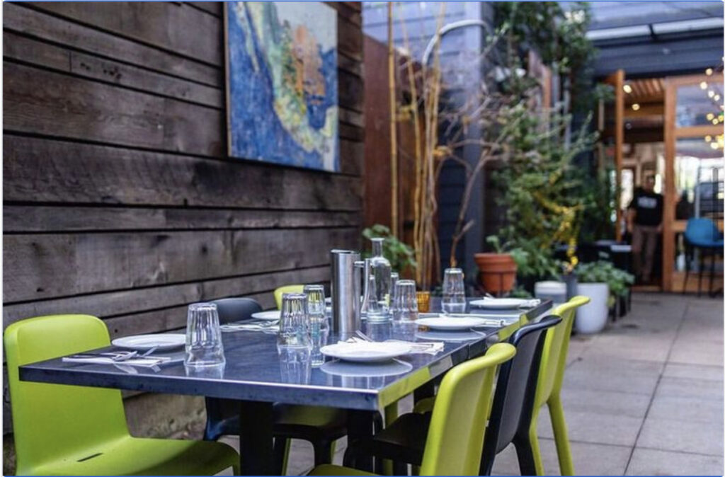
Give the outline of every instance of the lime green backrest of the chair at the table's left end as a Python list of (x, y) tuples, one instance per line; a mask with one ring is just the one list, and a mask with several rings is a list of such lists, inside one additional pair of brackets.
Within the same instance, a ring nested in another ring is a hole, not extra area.
[(67, 457), (80, 460), (99, 443), (128, 436), (116, 389), (20, 381), (18, 366), (110, 344), (106, 325), (89, 315), (51, 315), (12, 323), (5, 354), (17, 475)]

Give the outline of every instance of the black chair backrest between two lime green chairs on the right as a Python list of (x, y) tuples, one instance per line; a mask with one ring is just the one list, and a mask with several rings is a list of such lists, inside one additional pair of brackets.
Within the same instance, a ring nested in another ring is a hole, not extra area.
[(539, 363), (547, 329), (561, 323), (558, 316), (547, 316), (523, 325), (508, 339), (516, 348), (513, 360), (501, 365), (489, 426), (484, 439), (484, 460), (491, 459), (513, 441), (522, 419), (531, 418)]

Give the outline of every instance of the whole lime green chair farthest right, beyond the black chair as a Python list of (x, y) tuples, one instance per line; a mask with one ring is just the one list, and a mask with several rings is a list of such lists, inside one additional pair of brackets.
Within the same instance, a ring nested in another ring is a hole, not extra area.
[(539, 365), (539, 380), (537, 381), (536, 397), (534, 397), (534, 408), (531, 410), (531, 425), (528, 429), (519, 430), (520, 438), (530, 444), (531, 455), (529, 457), (532, 457), (519, 457), (522, 475), (544, 475), (544, 464), (542, 463), (537, 437), (539, 411), (543, 405), (549, 406), (561, 475), (574, 475), (571, 449), (566, 433), (566, 420), (564, 420), (564, 408), (561, 405), (561, 386), (564, 382), (566, 354), (569, 350), (569, 338), (571, 337), (571, 327), (576, 316), (576, 309), (587, 303), (589, 303), (589, 297), (574, 296), (568, 302), (560, 304), (552, 312), (552, 315), (558, 315), (561, 318), (562, 323), (547, 331), (544, 349), (542, 350), (542, 361)]

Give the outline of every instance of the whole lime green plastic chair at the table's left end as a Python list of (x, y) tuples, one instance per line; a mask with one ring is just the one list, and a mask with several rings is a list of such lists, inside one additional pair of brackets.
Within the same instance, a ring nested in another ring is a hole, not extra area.
[(239, 475), (226, 444), (130, 436), (117, 389), (20, 381), (20, 365), (108, 346), (98, 318), (28, 318), (7, 327), (4, 344), (17, 475)]

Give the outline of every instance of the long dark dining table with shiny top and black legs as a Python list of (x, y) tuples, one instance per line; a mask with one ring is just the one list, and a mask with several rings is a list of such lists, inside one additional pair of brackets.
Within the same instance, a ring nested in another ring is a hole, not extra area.
[[(391, 323), (362, 322), (361, 331), (374, 341), (438, 341), (436, 354), (405, 354), (382, 363), (354, 363), (327, 360), (322, 366), (300, 365), (278, 354), (276, 333), (232, 331), (223, 333), (225, 364), (191, 368), (180, 359), (154, 368), (64, 362), (62, 357), (20, 366), (20, 380), (77, 386), (96, 386), (166, 394), (234, 399), (239, 402), (241, 472), (244, 475), (275, 475), (278, 463), (273, 454), (275, 403), (327, 406), (347, 410), (349, 442), (373, 434), (381, 415), (394, 417), (397, 402), (414, 393), (417, 398), (434, 391), (434, 383), (455, 365), (480, 356), (497, 341), (510, 336), (526, 320), (537, 320), (552, 307), (542, 300), (514, 310), (472, 310), (500, 324), (468, 331), (434, 331), (399, 328)], [(433, 298), (431, 311), (440, 310)], [(352, 335), (331, 333), (328, 343)], [(101, 349), (117, 349), (108, 347)], [(159, 353), (160, 354), (160, 353)], [(372, 461), (362, 467), (372, 470)]]

